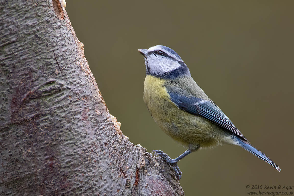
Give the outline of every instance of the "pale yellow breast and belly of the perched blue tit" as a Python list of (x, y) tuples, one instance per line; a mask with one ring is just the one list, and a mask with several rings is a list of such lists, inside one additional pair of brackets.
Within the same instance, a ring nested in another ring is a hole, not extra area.
[(221, 144), (228, 133), (205, 118), (179, 109), (170, 100), (165, 82), (168, 81), (149, 75), (144, 82), (144, 101), (157, 125), (174, 140), (192, 149), (197, 145), (207, 148)]

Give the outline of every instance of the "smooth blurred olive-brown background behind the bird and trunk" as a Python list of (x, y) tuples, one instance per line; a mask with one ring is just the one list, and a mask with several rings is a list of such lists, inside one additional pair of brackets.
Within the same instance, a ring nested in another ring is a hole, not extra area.
[(181, 160), (181, 186), (187, 196), (247, 195), (246, 185), (294, 186), (293, 7), (294, 1), (68, 0), (66, 11), (124, 135), (172, 158), (186, 149), (158, 128), (143, 102), (145, 66), (137, 49), (162, 44), (181, 56), (206, 94), (282, 169), (225, 145)]

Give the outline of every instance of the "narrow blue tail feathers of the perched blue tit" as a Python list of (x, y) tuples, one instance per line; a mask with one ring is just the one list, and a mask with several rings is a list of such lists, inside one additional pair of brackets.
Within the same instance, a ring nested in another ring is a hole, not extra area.
[(236, 137), (236, 139), (238, 140), (238, 143), (242, 148), (252, 153), (253, 155), (257, 156), (258, 158), (264, 160), (266, 163), (270, 164), (271, 166), (275, 167), (276, 170), (281, 171), (280, 167), (277, 164), (275, 164), (272, 160), (270, 160), (270, 158), (268, 158), (265, 154), (263, 154), (262, 152), (254, 148), (251, 144), (249, 144), (248, 142), (238, 137)]

